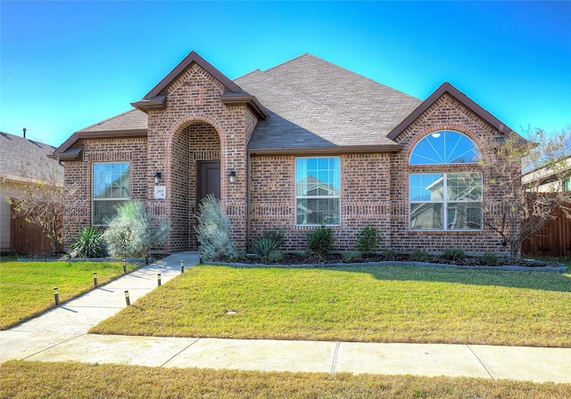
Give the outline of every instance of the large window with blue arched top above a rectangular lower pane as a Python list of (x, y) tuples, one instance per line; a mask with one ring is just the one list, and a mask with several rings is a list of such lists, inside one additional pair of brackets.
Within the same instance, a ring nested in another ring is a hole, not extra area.
[[(410, 154), (410, 165), (476, 163), (476, 144), (451, 131), (428, 134)], [(411, 173), (410, 230), (482, 230), (482, 174), (472, 171)]]

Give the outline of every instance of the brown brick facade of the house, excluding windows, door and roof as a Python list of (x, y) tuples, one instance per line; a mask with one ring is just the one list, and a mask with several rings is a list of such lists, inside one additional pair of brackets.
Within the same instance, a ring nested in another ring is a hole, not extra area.
[[(196, 249), (197, 166), (201, 161), (219, 159), (221, 200), (236, 247), (245, 251), (263, 232), (279, 230), (285, 234), (285, 250), (307, 248), (307, 233), (315, 227), (295, 224), (294, 192), (295, 159), (305, 152), (249, 154), (248, 143), (259, 115), (244, 103), (222, 102), (226, 90), (217, 77), (194, 62), (165, 88), (164, 107), (146, 110), (145, 136), (83, 139), (82, 159), (65, 164), (66, 183), (79, 184), (78, 200), (67, 212), (68, 237), (90, 224), (93, 162), (128, 161), (131, 198), (145, 201), (153, 217), (165, 217), (170, 224), (170, 237), (162, 249)], [(414, 146), (438, 130), (466, 134), (478, 146), (499, 134), (497, 127), (479, 114), (443, 94), (393, 138), (401, 151), (314, 154), (338, 156), (341, 161), (340, 225), (332, 227), (335, 249), (353, 249), (357, 232), (369, 224), (381, 232), (382, 248), (397, 251), (507, 251), (501, 247), (500, 237), (487, 227), (477, 232), (410, 231), (410, 173), (473, 170), (483, 174), (484, 184), (494, 178), (480, 165), (410, 166)], [(228, 183), (231, 171), (236, 172), (236, 183)], [(156, 172), (161, 173), (166, 199), (153, 198)], [(500, 200), (501, 193), (497, 195), (484, 201)]]

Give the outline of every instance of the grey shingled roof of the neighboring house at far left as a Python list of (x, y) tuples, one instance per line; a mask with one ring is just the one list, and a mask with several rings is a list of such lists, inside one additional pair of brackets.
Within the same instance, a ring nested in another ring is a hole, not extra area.
[(43, 142), (0, 132), (0, 178), (21, 182), (28, 182), (30, 178), (43, 180), (45, 170), (41, 167), (47, 164), (59, 170), (55, 177), (63, 183), (63, 167), (54, 159), (47, 158), (54, 150), (53, 146)]

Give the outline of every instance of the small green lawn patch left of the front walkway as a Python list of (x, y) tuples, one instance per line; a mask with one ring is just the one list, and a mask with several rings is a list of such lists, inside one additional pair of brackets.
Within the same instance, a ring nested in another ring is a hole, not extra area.
[[(133, 271), (137, 265), (129, 265)], [(121, 262), (18, 262), (3, 256), (0, 262), (0, 330), (54, 307), (54, 287), (60, 303), (123, 274)]]

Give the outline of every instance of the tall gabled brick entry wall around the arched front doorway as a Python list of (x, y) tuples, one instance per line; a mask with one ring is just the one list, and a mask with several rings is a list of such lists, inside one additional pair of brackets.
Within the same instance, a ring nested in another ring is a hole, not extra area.
[[(173, 229), (167, 244), (170, 252), (195, 248), (196, 161), (217, 158), (222, 206), (230, 217), (236, 246), (245, 248), (245, 154), (256, 119), (244, 105), (223, 104), (224, 91), (218, 80), (193, 64), (168, 87), (166, 109), (148, 113), (149, 169), (163, 171), (167, 186), (167, 199), (151, 202), (163, 203)], [(231, 170), (236, 171), (234, 184), (228, 183)]]

